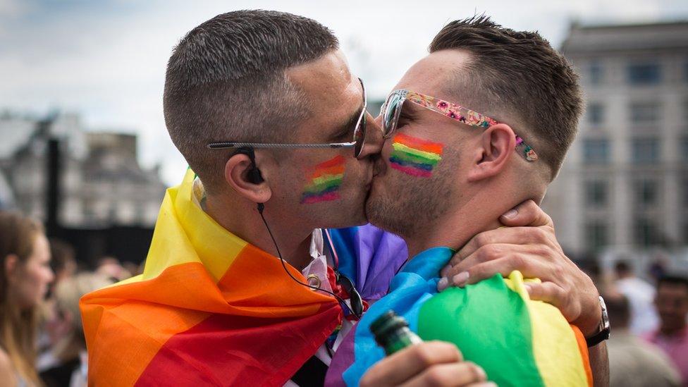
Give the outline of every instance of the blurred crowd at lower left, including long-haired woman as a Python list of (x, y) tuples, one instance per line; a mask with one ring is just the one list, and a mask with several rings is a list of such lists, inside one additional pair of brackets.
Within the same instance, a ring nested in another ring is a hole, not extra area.
[(79, 299), (139, 274), (102, 257), (94, 267), (42, 226), (0, 211), (0, 386), (87, 386)]

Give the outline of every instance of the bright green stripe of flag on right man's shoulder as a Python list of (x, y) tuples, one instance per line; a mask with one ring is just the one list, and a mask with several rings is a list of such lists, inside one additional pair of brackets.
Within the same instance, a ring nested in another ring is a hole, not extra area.
[(423, 340), (454, 343), (498, 386), (544, 386), (528, 307), (499, 274), (431, 297), (420, 309), (418, 333)]

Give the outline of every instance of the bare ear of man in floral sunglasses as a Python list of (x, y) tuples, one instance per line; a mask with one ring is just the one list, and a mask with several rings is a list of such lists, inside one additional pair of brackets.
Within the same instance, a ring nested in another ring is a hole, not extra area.
[(484, 130), (478, 147), (468, 174), (472, 182), (497, 176), (504, 170), (516, 147), (516, 135), (509, 125), (498, 123)]

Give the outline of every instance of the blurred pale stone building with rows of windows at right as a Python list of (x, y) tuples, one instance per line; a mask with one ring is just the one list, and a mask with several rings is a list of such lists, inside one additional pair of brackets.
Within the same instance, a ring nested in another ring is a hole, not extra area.
[(543, 208), (574, 254), (688, 245), (688, 22), (572, 25), (586, 113)]

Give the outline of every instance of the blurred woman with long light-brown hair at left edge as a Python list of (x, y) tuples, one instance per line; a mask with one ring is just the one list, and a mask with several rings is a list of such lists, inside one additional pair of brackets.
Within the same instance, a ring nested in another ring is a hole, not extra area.
[(36, 369), (37, 308), (54, 274), (42, 226), (0, 211), (0, 386), (42, 386)]

